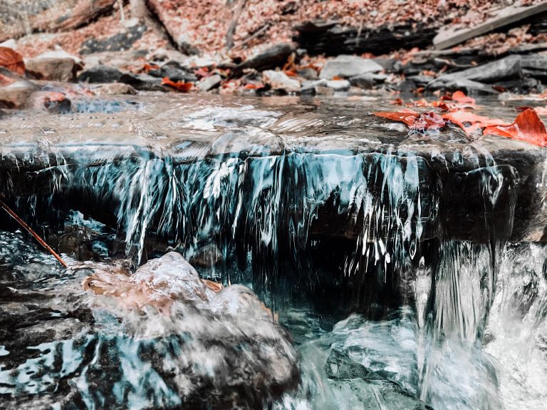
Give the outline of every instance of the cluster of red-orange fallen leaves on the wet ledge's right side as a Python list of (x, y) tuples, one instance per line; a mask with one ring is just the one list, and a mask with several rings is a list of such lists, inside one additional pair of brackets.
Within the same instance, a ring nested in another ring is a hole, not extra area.
[(408, 108), (402, 108), (400, 111), (375, 112), (373, 114), (377, 117), (405, 123), (410, 130), (440, 130), (447, 122), (450, 122), (462, 128), (467, 135), (483, 130), (482, 135), (499, 135), (524, 140), (541, 147), (547, 146), (547, 130), (538, 116), (538, 114), (547, 114), (547, 108), (544, 107), (536, 109), (529, 107), (517, 108), (523, 110), (523, 112), (516, 117), (514, 123), (506, 123), (497, 118), (479, 116), (467, 111), (466, 108), (474, 108), (475, 100), (461, 91), (456, 91), (452, 96), (444, 96), (441, 101), (433, 101), (432, 103), (428, 103), (423, 98), (410, 104), (405, 104), (400, 98), (397, 98), (391, 103), (399, 106), (435, 107), (448, 112), (443, 114), (434, 111), (417, 113)]

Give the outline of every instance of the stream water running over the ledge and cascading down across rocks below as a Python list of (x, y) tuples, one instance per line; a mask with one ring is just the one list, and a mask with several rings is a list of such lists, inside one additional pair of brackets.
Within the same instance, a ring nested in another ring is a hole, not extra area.
[[(78, 266), (1, 226), (0, 404), (547, 406), (545, 150), (409, 135), (380, 97), (74, 107), (0, 122), (1, 192)], [(83, 291), (122, 259), (167, 308)]]

